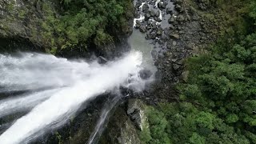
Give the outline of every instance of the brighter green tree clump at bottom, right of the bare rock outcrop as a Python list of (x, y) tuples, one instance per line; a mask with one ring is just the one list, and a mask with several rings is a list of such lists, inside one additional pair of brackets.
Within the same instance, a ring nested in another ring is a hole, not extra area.
[[(217, 114), (190, 102), (160, 104), (149, 107), (150, 141), (145, 143), (250, 143), (250, 131), (234, 129)], [(157, 117), (161, 116), (161, 117)]]

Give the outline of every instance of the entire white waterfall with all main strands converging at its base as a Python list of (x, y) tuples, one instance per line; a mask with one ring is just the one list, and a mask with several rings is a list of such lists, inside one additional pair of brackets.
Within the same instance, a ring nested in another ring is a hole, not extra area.
[(19, 57), (0, 54), (0, 93), (45, 89), (0, 101), (3, 115), (34, 107), (0, 135), (0, 143), (30, 142), (46, 130), (62, 125), (86, 100), (120, 85), (132, 85), (127, 80), (130, 75), (139, 83), (141, 63), (139, 52), (130, 52), (104, 66), (46, 54), (23, 53)]

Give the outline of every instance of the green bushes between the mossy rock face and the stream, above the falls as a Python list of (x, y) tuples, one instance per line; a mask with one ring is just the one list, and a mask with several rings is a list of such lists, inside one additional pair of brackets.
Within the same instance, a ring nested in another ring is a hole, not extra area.
[(121, 26), (130, 7), (127, 0), (63, 0), (61, 4), (60, 16), (54, 14), (50, 6), (43, 7), (47, 18), (42, 22), (42, 35), (53, 46), (52, 53), (65, 48), (86, 48), (88, 44), (104, 46), (113, 41), (107, 29)]

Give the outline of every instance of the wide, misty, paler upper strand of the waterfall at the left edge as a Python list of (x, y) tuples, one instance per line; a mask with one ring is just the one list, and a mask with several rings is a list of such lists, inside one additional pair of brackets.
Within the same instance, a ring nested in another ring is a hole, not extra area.
[(0, 93), (70, 86), (90, 74), (89, 64), (82, 60), (36, 53), (0, 54)]

